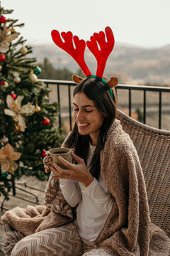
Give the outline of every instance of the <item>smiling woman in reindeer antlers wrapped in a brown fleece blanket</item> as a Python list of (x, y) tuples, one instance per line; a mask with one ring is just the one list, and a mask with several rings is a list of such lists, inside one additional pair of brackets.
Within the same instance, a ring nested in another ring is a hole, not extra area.
[[(77, 83), (75, 124), (62, 144), (72, 149), (72, 163), (60, 156), (67, 169), (56, 163), (45, 166), (52, 173), (45, 189), (47, 208), (42, 207), (40, 214), (39, 208), (28, 208), (23, 212), (13, 209), (3, 216), (4, 222), (8, 220), (13, 229), (26, 235), (13, 247), (11, 256), (169, 256), (168, 236), (150, 223), (139, 156), (116, 119), (114, 87), (118, 79), (103, 78), (114, 45), (111, 28), (105, 31), (107, 42), (102, 31), (87, 42), (98, 62), (96, 75), (91, 75), (84, 61), (85, 41), (69, 31), (62, 32), (63, 42), (60, 33), (52, 31), (57, 46), (69, 52), (86, 75), (84, 80), (73, 75)], [(17, 220), (28, 214), (32, 225), (23, 219), (13, 221), (13, 213), (19, 216)]]

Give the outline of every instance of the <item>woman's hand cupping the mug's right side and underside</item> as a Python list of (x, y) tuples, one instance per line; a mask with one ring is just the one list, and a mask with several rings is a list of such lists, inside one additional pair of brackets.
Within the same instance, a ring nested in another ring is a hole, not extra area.
[(56, 163), (51, 167), (52, 172), (56, 175), (53, 178), (69, 178), (74, 181), (81, 182), (84, 186), (89, 186), (89, 184), (94, 180), (94, 177), (89, 173), (84, 163), (84, 159), (74, 154), (72, 149), (72, 157), (77, 161), (78, 164), (71, 164), (67, 160), (59, 156), (62, 164), (67, 166), (68, 169), (62, 169)]

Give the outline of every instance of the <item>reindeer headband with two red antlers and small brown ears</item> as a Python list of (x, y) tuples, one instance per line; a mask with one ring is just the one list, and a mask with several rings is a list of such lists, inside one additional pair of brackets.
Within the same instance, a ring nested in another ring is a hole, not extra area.
[[(74, 60), (76, 60), (79, 67), (84, 72), (87, 78), (97, 78), (98, 80), (101, 80), (108, 87), (111, 96), (113, 97), (113, 91), (111, 90), (111, 88), (115, 87), (115, 85), (118, 84), (118, 78), (113, 77), (106, 82), (106, 80), (103, 79), (103, 73), (108, 56), (113, 50), (115, 39), (110, 27), (105, 28), (105, 33), (103, 31), (100, 31), (99, 33), (94, 33), (94, 36), (91, 36), (90, 41), (85, 42), (83, 39), (79, 40), (78, 36), (73, 36), (72, 32), (70, 31), (67, 33), (62, 32), (61, 36), (64, 39), (63, 42), (59, 31), (53, 30), (52, 40), (57, 46), (62, 48), (62, 50), (65, 50), (67, 53), (69, 53), (69, 55), (72, 56), (72, 58), (74, 58)], [(107, 41), (105, 41), (105, 38), (107, 38)], [(84, 52), (86, 45), (91, 53), (94, 54), (97, 60), (96, 75), (91, 75), (91, 72), (85, 63)], [(100, 49), (98, 48), (98, 45), (100, 46)], [(80, 82), (81, 80), (83, 80), (83, 78), (79, 78), (78, 76), (74, 75), (73, 80), (74, 82)]]

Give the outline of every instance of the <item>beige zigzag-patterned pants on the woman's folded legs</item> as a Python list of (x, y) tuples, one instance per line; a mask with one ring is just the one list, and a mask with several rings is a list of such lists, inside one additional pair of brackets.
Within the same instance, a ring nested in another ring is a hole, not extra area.
[(111, 256), (97, 245), (87, 245), (73, 223), (42, 230), (21, 239), (11, 256)]

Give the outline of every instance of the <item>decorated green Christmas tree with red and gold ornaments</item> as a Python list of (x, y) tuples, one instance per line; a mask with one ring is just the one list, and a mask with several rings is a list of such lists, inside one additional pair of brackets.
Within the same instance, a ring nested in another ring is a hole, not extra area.
[(0, 195), (5, 198), (23, 174), (47, 179), (42, 157), (62, 142), (54, 128), (59, 105), (50, 104), (50, 89), (38, 82), (41, 69), (28, 58), (33, 50), (16, 31), (24, 23), (6, 17), (12, 12), (0, 2)]

